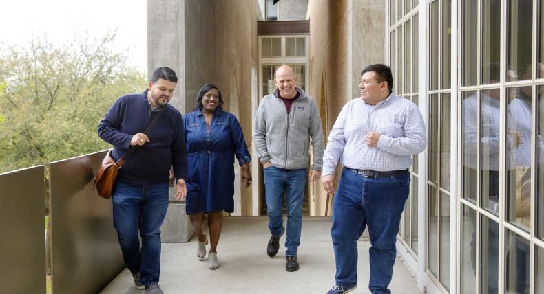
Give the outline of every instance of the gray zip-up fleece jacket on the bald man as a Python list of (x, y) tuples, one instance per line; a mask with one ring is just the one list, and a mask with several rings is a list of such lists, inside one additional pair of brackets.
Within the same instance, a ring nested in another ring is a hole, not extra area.
[(320, 111), (313, 98), (300, 88), (296, 90), (300, 95), (291, 105), (289, 115), (278, 98), (278, 89), (262, 98), (255, 118), (253, 144), (261, 163), (271, 161), (276, 168), (295, 170), (308, 167), (311, 138), (311, 169), (321, 171), (324, 144)]

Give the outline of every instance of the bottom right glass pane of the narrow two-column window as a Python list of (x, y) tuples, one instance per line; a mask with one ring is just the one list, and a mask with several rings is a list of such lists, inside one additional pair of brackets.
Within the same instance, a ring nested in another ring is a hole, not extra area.
[(440, 282), (450, 290), (450, 195), (440, 192)]

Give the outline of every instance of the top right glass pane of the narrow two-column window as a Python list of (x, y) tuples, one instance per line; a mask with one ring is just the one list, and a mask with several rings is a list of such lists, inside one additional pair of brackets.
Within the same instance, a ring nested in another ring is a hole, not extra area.
[(442, 0), (442, 58), (441, 89), (450, 89), (451, 87), (451, 68), (452, 68), (452, 1)]

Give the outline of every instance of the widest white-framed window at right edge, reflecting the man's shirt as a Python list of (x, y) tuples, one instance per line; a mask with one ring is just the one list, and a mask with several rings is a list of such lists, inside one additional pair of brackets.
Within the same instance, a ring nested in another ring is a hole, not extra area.
[(544, 0), (459, 2), (459, 291), (544, 293)]

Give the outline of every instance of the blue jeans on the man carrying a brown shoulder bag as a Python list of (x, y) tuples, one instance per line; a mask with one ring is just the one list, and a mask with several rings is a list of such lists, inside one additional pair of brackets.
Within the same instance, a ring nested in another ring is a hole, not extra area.
[[(160, 275), (160, 225), (168, 208), (168, 183), (134, 185), (116, 182), (112, 195), (114, 227), (125, 265), (131, 273), (140, 273), (145, 286), (157, 282)], [(142, 237), (140, 240), (138, 231)]]

